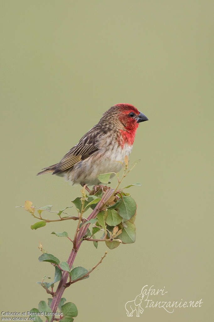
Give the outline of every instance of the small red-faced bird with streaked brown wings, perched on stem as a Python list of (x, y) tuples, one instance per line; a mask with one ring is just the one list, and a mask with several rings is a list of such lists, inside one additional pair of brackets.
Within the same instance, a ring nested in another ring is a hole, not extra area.
[[(42, 169), (37, 175), (52, 173), (72, 185), (97, 185), (98, 175), (118, 173), (124, 157), (129, 156), (139, 123), (148, 118), (127, 103), (108, 109), (59, 163)], [(115, 162), (119, 161), (119, 162)]]

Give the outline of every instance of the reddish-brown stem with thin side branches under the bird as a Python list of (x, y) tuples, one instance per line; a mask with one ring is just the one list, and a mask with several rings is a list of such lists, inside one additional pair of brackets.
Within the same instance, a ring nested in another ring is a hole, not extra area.
[[(120, 162), (120, 161), (115, 161), (115, 162)], [(91, 241), (91, 242), (114, 242), (114, 241), (120, 242), (120, 243), (122, 242), (120, 239), (114, 239), (117, 236), (118, 232), (117, 232), (117, 234), (114, 234), (114, 235), (111, 233), (110, 234), (111, 238), (107, 239), (106, 238), (107, 237), (107, 229), (102, 229), (100, 227), (98, 227), (98, 228), (100, 228), (101, 231), (105, 232), (104, 235), (103, 235), (103, 237), (104, 237), (103, 239), (92, 238), (95, 233), (92, 234), (90, 237), (84, 237), (86, 235), (86, 231), (87, 231), (88, 227), (90, 226), (90, 223), (88, 223), (90, 221), (90, 219), (96, 218), (97, 214), (101, 210), (106, 209), (106, 207), (108, 206), (108, 202), (112, 198), (112, 196), (113, 195), (116, 196), (116, 194), (120, 194), (121, 198), (123, 198), (122, 194), (120, 193), (121, 190), (118, 191), (118, 187), (120, 186), (121, 182), (125, 178), (126, 174), (129, 171), (131, 171), (132, 169), (128, 171), (128, 157), (127, 156), (125, 156), (125, 158), (124, 158), (124, 164), (122, 162), (120, 162), (120, 163), (124, 166), (124, 172), (123, 172), (123, 175), (122, 175), (121, 179), (119, 179), (118, 175), (115, 173), (115, 175), (117, 177), (117, 181), (118, 181), (118, 183), (116, 185), (116, 188), (111, 189), (110, 187), (107, 187), (107, 186), (105, 186), (105, 187), (100, 186), (100, 188), (102, 189), (102, 198), (97, 203), (97, 205), (95, 206), (94, 210), (90, 213), (90, 215), (88, 216), (87, 219), (82, 217), (82, 214), (85, 211), (85, 208), (84, 208), (85, 198), (88, 197), (85, 194), (85, 190), (87, 190), (89, 192), (89, 196), (90, 196), (90, 194), (95, 194), (96, 186), (91, 191), (86, 185), (83, 187), (83, 190), (81, 191), (82, 192), (81, 211), (78, 213), (78, 217), (77, 216), (71, 216), (70, 214), (65, 213), (65, 212), (60, 212), (60, 213), (66, 214), (69, 217), (61, 217), (61, 216), (59, 216), (59, 219), (57, 219), (57, 220), (48, 220), (48, 219), (43, 219), (42, 217), (37, 217), (36, 215), (34, 215), (35, 210), (32, 209), (32, 212), (31, 212), (31, 210), (29, 209), (30, 213), (32, 214), (33, 217), (35, 217), (35, 218), (37, 218), (39, 220), (43, 220), (45, 222), (57, 222), (57, 221), (64, 221), (64, 220), (69, 220), (69, 219), (78, 220), (78, 224), (77, 224), (77, 228), (76, 228), (73, 240), (71, 240), (68, 237), (68, 239), (71, 242), (73, 242), (73, 248), (72, 248), (71, 253), (69, 255), (69, 258), (67, 260), (67, 264), (68, 264), (70, 269), (71, 269), (71, 267), (73, 265), (73, 262), (75, 260), (76, 255), (77, 255), (77, 252), (78, 252), (83, 240), (87, 240), (87, 241)], [(119, 198), (119, 196), (117, 196), (117, 198)], [(21, 206), (21, 207), (23, 207), (23, 206)], [(41, 207), (31, 207), (31, 208), (41, 208)], [(55, 212), (58, 213), (57, 211), (50, 211), (50, 210), (47, 210), (47, 211), (51, 212), (51, 213), (55, 213)], [(80, 227), (81, 222), (82, 222), (82, 225)], [(97, 227), (95, 223), (92, 223), (92, 225), (94, 227)], [(95, 270), (97, 268), (97, 266), (102, 262), (102, 260), (106, 257), (106, 255), (107, 255), (107, 251), (105, 252), (104, 256), (101, 257), (100, 261), (90, 271), (88, 271), (86, 274), (84, 274), (83, 276), (81, 276), (78, 279), (71, 280), (71, 276), (69, 276), (69, 272), (63, 270), (62, 271), (62, 277), (61, 277), (61, 279), (59, 281), (59, 284), (58, 284), (57, 289), (56, 289), (55, 292), (53, 292), (53, 289), (51, 289), (52, 291), (49, 291), (48, 289), (45, 288), (47, 293), (49, 293), (49, 294), (51, 294), (53, 296), (53, 300), (52, 300), (51, 305), (50, 305), (50, 308), (51, 308), (53, 313), (55, 313), (57, 308), (58, 308), (60, 299), (62, 298), (62, 295), (64, 293), (65, 288), (67, 288), (68, 286), (70, 286), (73, 283), (76, 283), (77, 281), (79, 281), (81, 279), (84, 279), (84, 278), (88, 277), (90, 275), (90, 273), (93, 270)], [(59, 266), (58, 266), (58, 268), (60, 270), (62, 270)], [(53, 322), (53, 320), (59, 321), (60, 319), (61, 318), (56, 318), (56, 317), (53, 316), (51, 318), (51, 322)]]

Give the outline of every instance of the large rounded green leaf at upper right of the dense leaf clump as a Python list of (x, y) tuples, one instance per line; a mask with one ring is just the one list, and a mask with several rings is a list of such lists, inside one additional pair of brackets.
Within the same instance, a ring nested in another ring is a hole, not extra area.
[(117, 209), (121, 217), (129, 220), (136, 212), (136, 203), (132, 197), (123, 196), (108, 209)]

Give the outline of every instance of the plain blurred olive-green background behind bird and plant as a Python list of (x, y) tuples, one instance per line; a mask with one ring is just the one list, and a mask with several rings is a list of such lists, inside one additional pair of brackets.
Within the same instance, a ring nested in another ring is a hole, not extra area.
[[(76, 226), (32, 231), (35, 220), (14, 207), (71, 205), (80, 186), (36, 173), (127, 102), (149, 118), (130, 156), (141, 163), (125, 179), (142, 183), (129, 190), (136, 242), (109, 250), (64, 296), (78, 308), (76, 322), (122, 322), (144, 285), (165, 286), (166, 295), (150, 299), (202, 298), (202, 307), (169, 314), (142, 303), (139, 321), (211, 321), (211, 17), (211, 1), (1, 1), (1, 311), (48, 298), (36, 282), (54, 270), (38, 262), (39, 241), (66, 260), (71, 243), (50, 233), (72, 237)], [(106, 248), (83, 243), (75, 266), (91, 268)]]

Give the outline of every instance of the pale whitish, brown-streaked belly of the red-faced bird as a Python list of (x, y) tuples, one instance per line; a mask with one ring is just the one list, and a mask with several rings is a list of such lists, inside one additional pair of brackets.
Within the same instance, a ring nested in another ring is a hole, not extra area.
[[(97, 185), (97, 176), (103, 173), (119, 172), (124, 163), (124, 157), (129, 156), (132, 146), (124, 144), (124, 148), (114, 146), (111, 151), (105, 154), (90, 156), (79, 162), (73, 169), (64, 174), (64, 178), (72, 184)], [(120, 162), (116, 162), (120, 161)]]

